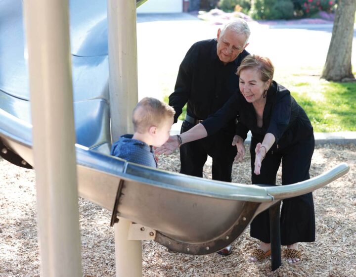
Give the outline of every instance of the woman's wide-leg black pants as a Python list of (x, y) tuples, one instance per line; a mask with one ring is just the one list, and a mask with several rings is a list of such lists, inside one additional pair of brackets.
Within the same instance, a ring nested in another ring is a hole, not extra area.
[[(282, 185), (310, 179), (309, 169), (314, 151), (314, 136), (282, 150), (269, 150), (262, 161), (261, 174), (254, 173), (255, 148), (257, 141), (252, 139), (250, 146), (252, 184), (275, 185), (276, 174), (282, 161)], [(284, 199), (280, 215), (281, 244), (315, 240), (315, 215), (312, 193)], [(251, 236), (265, 243), (270, 242), (268, 210), (259, 214), (251, 223)]]

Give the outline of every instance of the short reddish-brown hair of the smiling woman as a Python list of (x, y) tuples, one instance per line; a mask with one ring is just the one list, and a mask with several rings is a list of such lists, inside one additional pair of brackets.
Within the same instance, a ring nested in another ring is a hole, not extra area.
[(268, 80), (273, 80), (274, 66), (270, 59), (267, 57), (262, 57), (259, 55), (248, 55), (246, 56), (241, 65), (237, 68), (236, 75), (240, 75), (241, 71), (248, 68), (256, 68), (261, 73), (261, 80), (267, 82)]

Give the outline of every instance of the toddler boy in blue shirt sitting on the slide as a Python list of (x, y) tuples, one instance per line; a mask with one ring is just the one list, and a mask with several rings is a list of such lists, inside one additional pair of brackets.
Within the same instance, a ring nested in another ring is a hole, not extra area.
[(111, 155), (157, 168), (152, 146), (160, 147), (169, 138), (175, 110), (164, 102), (145, 97), (133, 111), (134, 135), (123, 135), (111, 147)]

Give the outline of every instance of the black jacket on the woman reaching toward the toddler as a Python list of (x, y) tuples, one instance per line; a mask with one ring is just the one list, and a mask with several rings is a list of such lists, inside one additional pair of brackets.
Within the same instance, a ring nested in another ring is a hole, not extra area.
[(267, 133), (273, 134), (279, 149), (292, 145), (313, 133), (312, 124), (290, 92), (272, 82), (267, 91), (263, 125), (257, 126), (256, 111), (238, 90), (215, 114), (202, 122), (208, 136), (214, 134), (231, 119), (237, 118), (236, 135), (246, 139), (251, 130), (253, 139), (262, 142)]

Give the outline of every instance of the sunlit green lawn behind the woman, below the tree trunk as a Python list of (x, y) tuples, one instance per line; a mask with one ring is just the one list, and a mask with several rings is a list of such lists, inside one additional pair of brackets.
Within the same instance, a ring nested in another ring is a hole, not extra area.
[[(356, 82), (328, 82), (320, 79), (321, 71), (321, 68), (284, 68), (276, 71), (274, 80), (290, 90), (305, 109), (314, 132), (356, 131)], [(168, 96), (165, 101), (168, 102)], [(184, 116), (185, 107), (179, 118)]]

